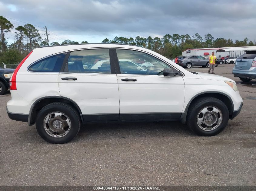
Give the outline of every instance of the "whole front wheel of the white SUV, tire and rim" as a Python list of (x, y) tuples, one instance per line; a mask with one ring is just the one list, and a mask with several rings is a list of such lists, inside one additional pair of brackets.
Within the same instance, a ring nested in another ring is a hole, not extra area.
[(187, 125), (201, 136), (220, 133), (228, 124), (228, 108), (215, 97), (201, 97), (189, 107)]

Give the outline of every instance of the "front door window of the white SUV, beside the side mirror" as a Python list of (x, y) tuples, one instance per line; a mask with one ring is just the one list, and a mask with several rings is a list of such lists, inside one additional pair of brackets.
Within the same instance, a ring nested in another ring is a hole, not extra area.
[(169, 65), (146, 53), (124, 49), (116, 49), (116, 53), (121, 74), (163, 75), (164, 68), (170, 68)]

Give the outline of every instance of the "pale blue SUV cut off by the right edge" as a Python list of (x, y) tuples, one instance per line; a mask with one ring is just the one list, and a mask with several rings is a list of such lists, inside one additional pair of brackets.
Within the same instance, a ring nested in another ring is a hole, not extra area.
[(232, 73), (242, 81), (256, 79), (256, 50), (245, 51), (236, 59)]

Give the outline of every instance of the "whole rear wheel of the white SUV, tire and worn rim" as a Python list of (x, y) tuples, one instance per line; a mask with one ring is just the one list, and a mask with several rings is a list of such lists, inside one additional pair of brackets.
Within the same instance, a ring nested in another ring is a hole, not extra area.
[(68, 104), (55, 102), (43, 107), (36, 118), (38, 134), (47, 142), (61, 144), (71, 141), (81, 127), (78, 112)]

